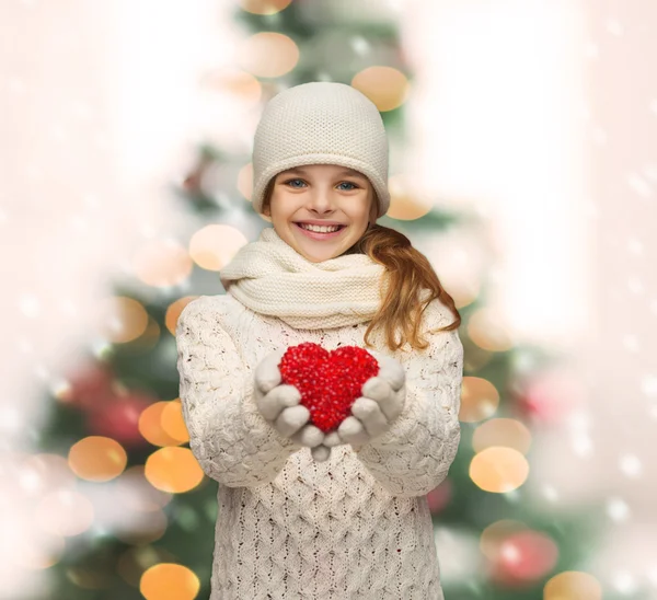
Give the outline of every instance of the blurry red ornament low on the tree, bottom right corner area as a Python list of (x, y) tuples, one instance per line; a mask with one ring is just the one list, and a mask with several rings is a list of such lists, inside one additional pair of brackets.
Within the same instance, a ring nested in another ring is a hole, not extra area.
[(510, 534), (492, 564), (492, 579), (504, 587), (523, 587), (545, 577), (556, 565), (558, 549), (545, 533), (525, 530)]

